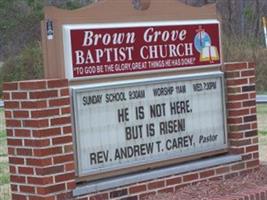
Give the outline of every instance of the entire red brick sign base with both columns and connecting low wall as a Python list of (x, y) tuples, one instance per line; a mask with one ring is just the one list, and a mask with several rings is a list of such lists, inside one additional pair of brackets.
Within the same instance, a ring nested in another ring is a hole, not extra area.
[[(241, 155), (242, 161), (75, 199), (144, 199), (197, 181), (229, 178), (257, 168), (255, 65), (232, 63), (224, 68), (229, 153)], [(12, 82), (3, 88), (12, 199), (73, 199), (76, 181), (67, 80)]]

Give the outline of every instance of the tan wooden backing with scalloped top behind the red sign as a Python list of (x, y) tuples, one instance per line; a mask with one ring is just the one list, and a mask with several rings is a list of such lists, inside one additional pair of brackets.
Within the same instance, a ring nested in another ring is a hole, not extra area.
[[(62, 39), (62, 26), (64, 24), (164, 22), (179, 20), (208, 20), (217, 18), (214, 4), (196, 8), (185, 5), (177, 0), (143, 1), (145, 5), (144, 8), (148, 7), (146, 10), (134, 9), (131, 0), (119, 0), (116, 1), (116, 3), (112, 0), (103, 0), (73, 11), (55, 7), (46, 7), (45, 20), (42, 22), (45, 78), (66, 77)], [(201, 69), (198, 69), (197, 71), (199, 70), (202, 71)], [(156, 74), (157, 72), (155, 75)], [(102, 79), (105, 81), (106, 78), (103, 77)], [(76, 82), (82, 81), (79, 80)]]

